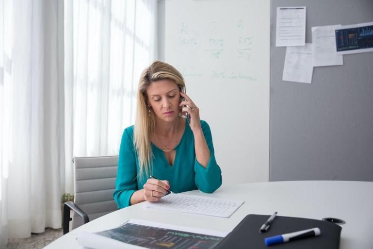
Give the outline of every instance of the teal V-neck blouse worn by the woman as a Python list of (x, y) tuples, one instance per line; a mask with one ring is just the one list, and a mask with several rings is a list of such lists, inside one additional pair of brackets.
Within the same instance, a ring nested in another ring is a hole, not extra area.
[[(216, 164), (210, 127), (203, 120), (201, 120), (201, 127), (211, 154), (206, 168), (200, 165), (195, 158), (195, 139), (188, 122), (185, 124), (181, 140), (175, 148), (176, 155), (173, 166), (168, 163), (164, 152), (153, 143), (151, 144), (154, 154), (151, 174), (157, 179), (167, 180), (170, 183), (170, 190), (174, 193), (195, 189), (212, 193), (222, 184), (221, 170)], [(137, 176), (138, 172), (139, 161), (133, 146), (133, 126), (130, 126), (123, 132), (119, 149), (114, 191), (114, 200), (118, 208), (130, 206), (132, 194), (136, 190), (142, 189), (146, 183), (145, 173), (142, 176)]]

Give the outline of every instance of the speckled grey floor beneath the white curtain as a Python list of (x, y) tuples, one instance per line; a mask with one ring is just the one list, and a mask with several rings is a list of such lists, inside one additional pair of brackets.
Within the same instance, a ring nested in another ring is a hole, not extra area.
[(47, 228), (43, 233), (32, 233), (25, 239), (9, 239), (8, 245), (1, 249), (42, 249), (62, 236), (62, 229)]

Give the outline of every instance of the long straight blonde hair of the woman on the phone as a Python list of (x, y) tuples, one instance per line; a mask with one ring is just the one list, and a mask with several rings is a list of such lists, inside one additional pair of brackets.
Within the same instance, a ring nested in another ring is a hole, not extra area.
[(172, 80), (179, 88), (185, 89), (181, 73), (167, 63), (155, 61), (142, 72), (137, 89), (137, 114), (133, 132), (133, 145), (137, 151), (140, 167), (137, 176), (141, 176), (145, 172), (148, 177), (152, 171), (151, 135), (155, 130), (155, 114), (146, 108), (146, 89), (151, 83), (161, 80)]

